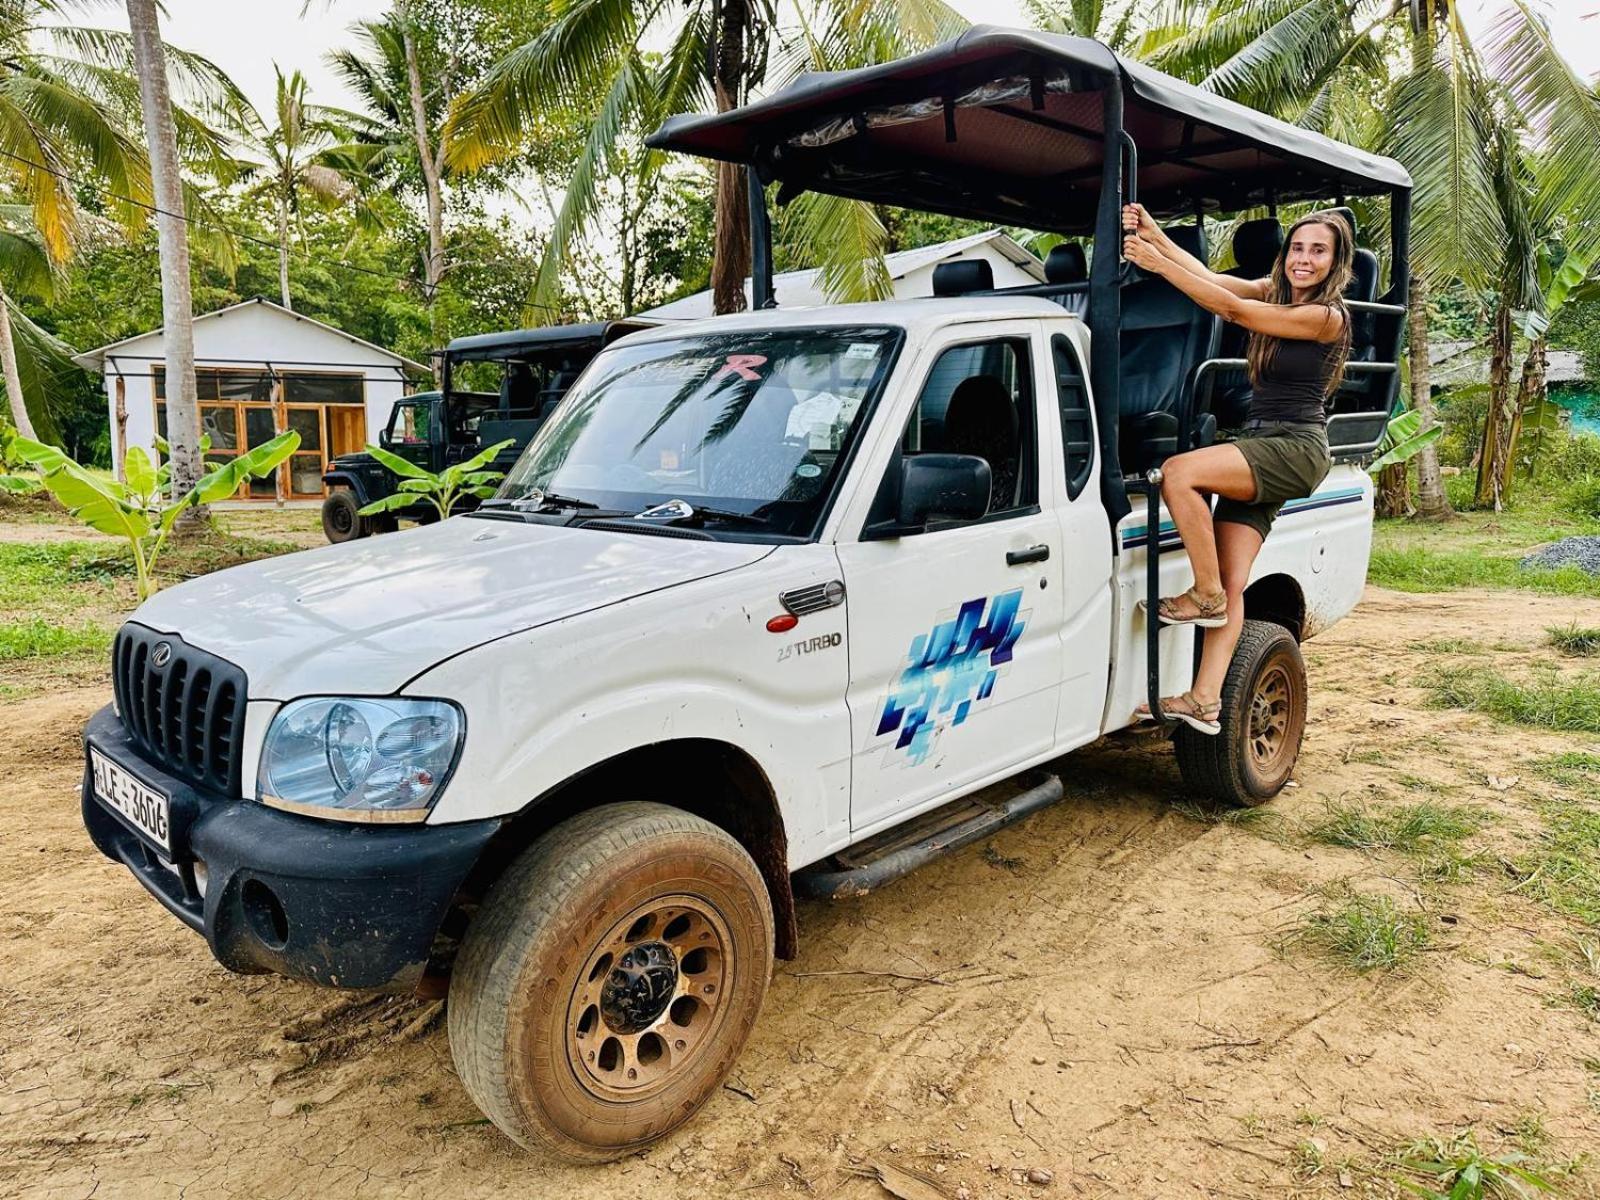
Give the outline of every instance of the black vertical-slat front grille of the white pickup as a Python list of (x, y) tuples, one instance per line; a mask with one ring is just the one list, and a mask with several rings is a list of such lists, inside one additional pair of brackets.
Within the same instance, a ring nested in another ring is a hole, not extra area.
[(144, 757), (198, 787), (240, 795), (245, 672), (131, 621), (110, 653), (117, 712)]

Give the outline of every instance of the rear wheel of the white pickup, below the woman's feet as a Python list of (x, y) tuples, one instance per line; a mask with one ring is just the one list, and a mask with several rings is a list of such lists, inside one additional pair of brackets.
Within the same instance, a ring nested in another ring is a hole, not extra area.
[(1173, 734), (1195, 792), (1227, 805), (1266, 803), (1290, 781), (1306, 734), (1306, 661), (1283, 626), (1246, 621), (1222, 680), (1222, 731)]

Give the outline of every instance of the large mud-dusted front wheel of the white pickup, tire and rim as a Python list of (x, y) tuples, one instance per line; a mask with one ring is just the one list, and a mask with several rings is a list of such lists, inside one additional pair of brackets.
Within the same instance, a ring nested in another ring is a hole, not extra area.
[(722, 1086), (771, 970), (771, 901), (738, 842), (666, 805), (603, 805), (483, 899), (450, 984), (450, 1050), (515, 1142), (606, 1162)]

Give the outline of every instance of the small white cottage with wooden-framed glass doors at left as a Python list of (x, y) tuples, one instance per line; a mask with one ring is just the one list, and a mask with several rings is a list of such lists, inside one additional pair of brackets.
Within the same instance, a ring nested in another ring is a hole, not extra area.
[[(293, 429), (299, 451), (277, 478), (251, 480), (240, 499), (320, 499), (336, 454), (376, 442), (422, 363), (266, 299), (195, 317), (195, 382), (206, 458), (221, 462)], [(150, 330), (74, 358), (106, 378), (115, 461), (126, 446), (155, 448), (166, 434), (162, 331)]]

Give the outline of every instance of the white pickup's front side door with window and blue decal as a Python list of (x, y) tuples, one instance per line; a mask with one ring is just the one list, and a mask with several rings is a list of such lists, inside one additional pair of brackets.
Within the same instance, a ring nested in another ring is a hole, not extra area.
[[(1043, 400), (1054, 405), (1053, 374), (1038, 358), (1035, 322), (1000, 330), (976, 341), (952, 331), (925, 357), (886, 467), (898, 478), (910, 454), (986, 458), (995, 482), (989, 512), (838, 546), (856, 837), (1010, 774), (1054, 746), (1062, 533), (1040, 506), (1053, 469), (1045, 464), (1054, 462), (1040, 437), (1054, 429), (1040, 419)], [(878, 502), (893, 493), (882, 488)]]

